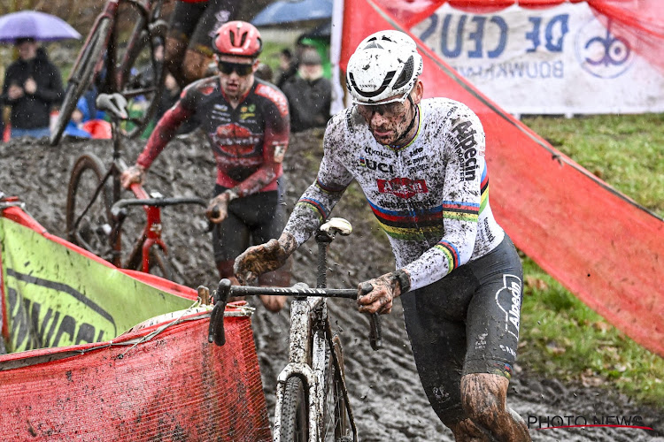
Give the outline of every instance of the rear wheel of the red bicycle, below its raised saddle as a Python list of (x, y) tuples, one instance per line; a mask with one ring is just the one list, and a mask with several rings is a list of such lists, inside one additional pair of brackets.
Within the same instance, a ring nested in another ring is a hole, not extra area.
[(89, 252), (111, 259), (112, 191), (102, 161), (93, 154), (73, 165), (66, 202), (67, 240)]

